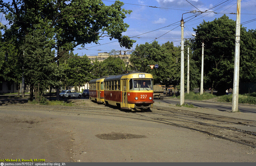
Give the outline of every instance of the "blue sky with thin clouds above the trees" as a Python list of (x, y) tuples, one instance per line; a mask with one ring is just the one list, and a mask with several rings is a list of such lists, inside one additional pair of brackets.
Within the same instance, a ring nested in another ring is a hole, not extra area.
[[(111, 5), (114, 3), (113, 0), (102, 0), (105, 5)], [(185, 21), (184, 28), (184, 38), (191, 38), (193, 28), (196, 28), (197, 25), (202, 23), (203, 19), (205, 21), (212, 21), (215, 18), (219, 18), (227, 13), (230, 19), (236, 20), (236, 15), (229, 13), (236, 13), (237, 0), (121, 0), (125, 4), (123, 8), (126, 10), (132, 10), (133, 12), (130, 15), (127, 15), (127, 18), (124, 19), (124, 22), (129, 24), (130, 27), (126, 32), (123, 32), (123, 35), (129, 37), (137, 36), (132, 39), (136, 40), (133, 44), (133, 48), (138, 44), (145, 44), (145, 42), (152, 42), (154, 40), (158, 41), (159, 44), (163, 44), (167, 41), (173, 41), (175, 46), (180, 45), (181, 38), (181, 27), (179, 26), (181, 16), (183, 13), (197, 10), (197, 11), (214, 11), (213, 12), (203, 13), (195, 17), (196, 14), (186, 13), (183, 14), (183, 19)], [(191, 5), (191, 4), (192, 5)], [(218, 5), (218, 6), (217, 6)], [(154, 6), (149, 7), (149, 6)], [(216, 7), (215, 7), (216, 6)], [(158, 8), (157, 8), (158, 7)], [(211, 9), (212, 8), (212, 9)], [(1, 14), (2, 15), (2, 14)], [(190, 17), (191, 16), (191, 17)], [(188, 19), (185, 19), (190, 17)], [(191, 19), (191, 20), (189, 20)], [(250, 22), (250, 20), (256, 19), (256, 0), (242, 0), (241, 2), (241, 23), (246, 22), (244, 27), (248, 29), (256, 29), (256, 21)], [(187, 21), (187, 22), (186, 22)], [(5, 20), (1, 21), (3, 24)], [(171, 25), (173, 24), (173, 25)], [(168, 26), (171, 25), (171, 26)], [(168, 27), (166, 27), (168, 26)], [(165, 28), (163, 28), (165, 27)], [(161, 29), (159, 29), (161, 28)], [(159, 30), (156, 30), (159, 29)], [(150, 32), (155, 30), (153, 32)], [(150, 33), (146, 33), (150, 32)], [(145, 34), (143, 34), (145, 33)], [(165, 34), (166, 33), (166, 34)], [(142, 34), (142, 35), (140, 35)], [(163, 36), (162, 36), (163, 35)], [(160, 37), (161, 36), (161, 37)], [(140, 37), (140, 38), (138, 38)], [(157, 39), (155, 39), (157, 38)], [(124, 47), (120, 47), (118, 42), (113, 39), (110, 41), (107, 37), (104, 37), (103, 40), (100, 40), (101, 45), (94, 43), (85, 45), (87, 49), (81, 49), (77, 47), (74, 50), (74, 53), (78, 55), (98, 55), (100, 52), (109, 52), (112, 49), (115, 50), (127, 50)], [(112, 42), (112, 43), (109, 43)], [(105, 44), (108, 43), (108, 44)], [(104, 44), (104, 45), (102, 45)]]

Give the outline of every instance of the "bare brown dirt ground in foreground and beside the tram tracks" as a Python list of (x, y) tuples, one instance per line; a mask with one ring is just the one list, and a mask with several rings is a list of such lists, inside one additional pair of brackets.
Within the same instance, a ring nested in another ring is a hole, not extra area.
[[(163, 106), (163, 103), (155, 105)], [(87, 111), (83, 110), (85, 108)], [(256, 119), (255, 113), (181, 109)], [(108, 108), (88, 99), (73, 107), (9, 104), (0, 106), (0, 110), (0, 159), (45, 159), (46, 162), (256, 161), (255, 148), (181, 127), (134, 119), (132, 117), (136, 116), (131, 112)]]

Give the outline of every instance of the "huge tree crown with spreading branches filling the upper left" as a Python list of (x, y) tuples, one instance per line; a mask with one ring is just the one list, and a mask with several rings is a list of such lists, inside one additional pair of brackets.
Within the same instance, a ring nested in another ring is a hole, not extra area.
[(52, 59), (55, 63), (76, 46), (99, 43), (106, 36), (110, 40), (117, 39), (121, 47), (131, 48), (135, 41), (122, 36), (129, 27), (123, 19), (131, 11), (122, 6), (120, 1), (106, 6), (101, 0), (17, 0), (11, 3), (0, 0), (0, 12), (11, 25), (10, 28), (2, 25), (0, 28), (17, 36), (19, 44), (25, 43), (25, 36), (34, 30), (44, 29), (45, 36), (53, 37), (55, 41), (51, 45), (51, 49), (57, 50), (57, 56)]

